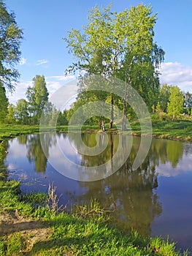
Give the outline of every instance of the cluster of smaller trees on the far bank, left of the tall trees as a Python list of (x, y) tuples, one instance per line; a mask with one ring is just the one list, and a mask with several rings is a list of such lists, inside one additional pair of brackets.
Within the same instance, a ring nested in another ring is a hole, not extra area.
[[(28, 86), (26, 99), (19, 99), (16, 105), (9, 104), (7, 109), (5, 107), (1, 120), (8, 124), (39, 124), (42, 118), (46, 124), (55, 124), (58, 110), (49, 102), (48, 96), (44, 75), (36, 75), (33, 78), (33, 86)], [(4, 102), (7, 102), (5, 94), (3, 98)]]

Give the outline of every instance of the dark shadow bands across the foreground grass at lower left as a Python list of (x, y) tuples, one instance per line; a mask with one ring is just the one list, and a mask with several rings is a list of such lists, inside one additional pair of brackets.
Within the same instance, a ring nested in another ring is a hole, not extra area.
[[(21, 222), (18, 222), (21, 221)], [(18, 219), (18, 217), (15, 216), (15, 214), (7, 214), (5, 216), (5, 219), (1, 221), (0, 225), (0, 236), (9, 236), (12, 233), (18, 233), (21, 231), (26, 230), (39, 230), (39, 233), (41, 233), (42, 228), (57, 228), (57, 227), (66, 227), (67, 225), (83, 225), (86, 224), (85, 219), (78, 219), (76, 217), (69, 217), (66, 215), (66, 217), (63, 215), (61, 218), (57, 217), (56, 219), (53, 219), (52, 221), (41, 221), (41, 220), (32, 220), (32, 221), (23, 221), (22, 219)], [(53, 234), (53, 237), (50, 237), (49, 240), (47, 240), (46, 236), (42, 237), (40, 241), (35, 241), (35, 244), (31, 247), (30, 251), (27, 252), (26, 255), (39, 255), (40, 251), (48, 251), (52, 250), (52, 252), (55, 252), (55, 250), (59, 249), (62, 252), (69, 252), (70, 248), (77, 248), (81, 249), (82, 245), (84, 244), (90, 244), (96, 242), (98, 239), (100, 239), (100, 235), (97, 234), (85, 234), (85, 236), (77, 237), (77, 233), (74, 232), (74, 235), (72, 237), (67, 237), (67, 229), (66, 230), (60, 230), (58, 234), (51, 232)], [(51, 234), (49, 233), (49, 234)], [(59, 237), (61, 236), (61, 237)], [(68, 254), (67, 254), (68, 255)]]

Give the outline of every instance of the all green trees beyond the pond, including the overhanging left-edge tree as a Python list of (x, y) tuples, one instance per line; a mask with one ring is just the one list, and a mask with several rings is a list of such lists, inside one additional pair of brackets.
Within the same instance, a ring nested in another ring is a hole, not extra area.
[[(148, 110), (159, 113), (159, 116), (166, 113), (174, 120), (180, 113), (191, 114), (190, 93), (184, 94), (177, 86), (160, 85), (159, 67), (164, 61), (164, 50), (154, 42), (156, 15), (153, 15), (151, 7), (143, 4), (119, 13), (112, 12), (111, 6), (101, 10), (94, 7), (89, 12), (88, 25), (83, 26), (82, 31), (69, 31), (65, 41), (77, 61), (66, 69), (66, 73), (78, 72), (80, 77), (77, 101), (70, 110), (61, 113), (48, 102), (43, 75), (36, 75), (33, 79), (33, 86), (26, 91), (26, 99), (19, 99), (16, 106), (9, 105), (5, 88), (13, 90), (12, 82), (18, 79), (14, 64), (20, 59), (23, 32), (15, 22), (15, 15), (7, 12), (3, 0), (0, 0), (0, 11), (1, 122), (38, 124), (39, 118), (43, 117), (46, 124), (55, 124), (56, 119), (58, 124), (67, 124), (78, 108), (88, 102), (100, 101), (108, 103), (105, 108), (110, 109), (110, 128), (114, 119), (118, 118), (122, 121), (122, 129), (126, 129), (126, 119), (135, 115), (128, 105), (130, 86), (139, 92)], [(89, 90), (91, 85), (85, 88), (81, 78), (91, 75), (99, 75), (107, 83), (111, 83), (111, 78), (123, 81), (123, 97), (115, 93), (117, 84), (111, 84), (110, 92), (105, 88), (101, 91)], [(120, 111), (116, 111), (115, 107)], [(82, 116), (83, 108), (79, 118)], [(101, 118), (96, 116), (89, 121), (98, 122)]]

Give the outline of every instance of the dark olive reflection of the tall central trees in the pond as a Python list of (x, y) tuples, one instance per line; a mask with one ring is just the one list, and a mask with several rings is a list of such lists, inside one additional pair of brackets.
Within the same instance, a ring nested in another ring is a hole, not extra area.
[[(85, 135), (86, 137), (87, 135)], [(109, 141), (105, 160), (110, 158), (117, 148), (118, 136), (110, 135)], [(126, 140), (122, 141), (126, 146)], [(80, 195), (80, 200), (88, 201), (91, 197), (99, 199), (99, 202), (105, 208), (115, 209), (115, 225), (124, 230), (134, 228), (134, 230), (139, 230), (142, 235), (148, 236), (151, 232), (150, 223), (155, 216), (161, 214), (162, 210), (158, 196), (153, 191), (158, 187), (158, 179), (154, 162), (150, 161), (150, 154), (148, 154), (141, 167), (137, 170), (131, 169), (139, 145), (139, 139), (135, 138), (131, 154), (126, 163), (109, 178), (103, 181), (80, 183), (80, 186), (87, 189), (84, 195)], [(155, 151), (153, 151), (153, 154), (155, 154)], [(82, 156), (82, 162), (94, 165), (96, 159)]]

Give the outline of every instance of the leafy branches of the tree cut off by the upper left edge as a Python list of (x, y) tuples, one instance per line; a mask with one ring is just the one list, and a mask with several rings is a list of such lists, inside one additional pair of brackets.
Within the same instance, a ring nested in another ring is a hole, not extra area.
[(15, 64), (20, 60), (20, 42), (23, 31), (18, 28), (13, 12), (8, 12), (0, 0), (0, 82), (2, 86), (13, 89), (12, 82), (18, 80)]

